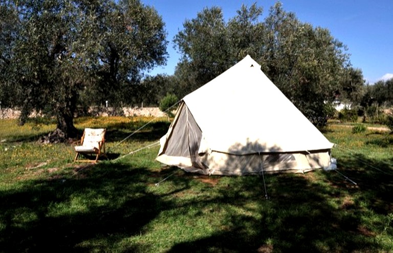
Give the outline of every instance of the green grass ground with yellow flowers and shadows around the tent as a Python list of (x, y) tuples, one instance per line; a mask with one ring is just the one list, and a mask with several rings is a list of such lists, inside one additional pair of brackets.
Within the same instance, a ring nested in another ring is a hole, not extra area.
[(260, 177), (185, 173), (156, 162), (158, 146), (124, 156), (166, 133), (158, 119), (119, 144), (150, 120), (77, 119), (107, 128), (110, 160), (93, 166), (72, 162), (73, 144), (36, 142), (50, 122), (0, 120), (0, 252), (393, 251), (392, 135), (328, 127), (357, 185), (334, 171), (265, 175), (266, 199)]

